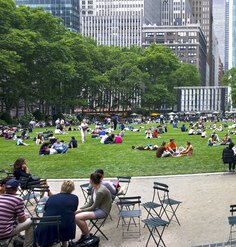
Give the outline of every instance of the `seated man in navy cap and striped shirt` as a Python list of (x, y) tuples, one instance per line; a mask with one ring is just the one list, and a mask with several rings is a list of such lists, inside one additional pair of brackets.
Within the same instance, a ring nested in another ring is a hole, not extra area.
[(18, 186), (19, 181), (9, 179), (5, 184), (5, 193), (0, 195), (0, 240), (25, 231), (24, 247), (32, 247), (32, 221), (25, 214), (23, 199), (16, 195)]

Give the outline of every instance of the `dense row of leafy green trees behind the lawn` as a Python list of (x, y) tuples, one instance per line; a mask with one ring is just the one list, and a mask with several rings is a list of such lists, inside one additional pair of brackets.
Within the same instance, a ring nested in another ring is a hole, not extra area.
[(196, 67), (167, 47), (97, 45), (41, 8), (0, 0), (1, 112), (155, 110), (175, 103), (174, 87), (193, 85), (200, 85)]

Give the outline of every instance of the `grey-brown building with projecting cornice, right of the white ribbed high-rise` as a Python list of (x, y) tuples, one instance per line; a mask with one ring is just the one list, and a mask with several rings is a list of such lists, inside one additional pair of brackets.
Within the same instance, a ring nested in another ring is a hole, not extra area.
[(196, 65), (206, 85), (207, 43), (199, 24), (186, 26), (144, 25), (142, 47), (151, 43), (168, 46), (184, 63)]

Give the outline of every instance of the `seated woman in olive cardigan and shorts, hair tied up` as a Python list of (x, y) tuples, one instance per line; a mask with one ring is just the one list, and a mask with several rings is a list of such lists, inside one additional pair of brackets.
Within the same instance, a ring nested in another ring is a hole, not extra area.
[(112, 205), (111, 193), (102, 185), (101, 179), (102, 175), (99, 173), (90, 175), (90, 183), (93, 187), (90, 201), (75, 212), (76, 224), (82, 232), (80, 240), (90, 237), (86, 220), (106, 218), (110, 213)]

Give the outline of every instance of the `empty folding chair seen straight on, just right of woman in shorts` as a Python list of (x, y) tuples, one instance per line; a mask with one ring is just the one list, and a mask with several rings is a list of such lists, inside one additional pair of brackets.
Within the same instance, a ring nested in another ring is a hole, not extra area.
[[(122, 237), (125, 238), (126, 234), (131, 236), (131, 234), (138, 233), (140, 238), (141, 196), (119, 197), (119, 200), (119, 221), (120, 219), (122, 221)], [(135, 231), (133, 226), (138, 227), (138, 231)], [(131, 228), (132, 230), (130, 231)]]

